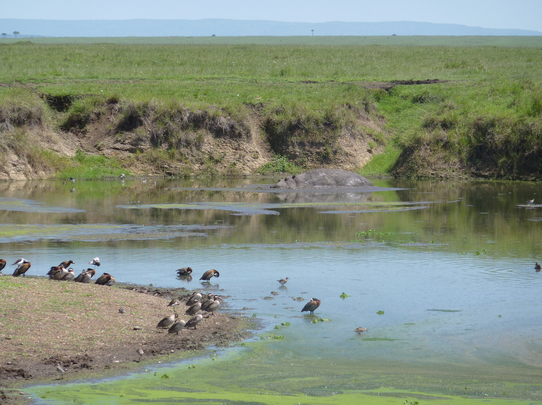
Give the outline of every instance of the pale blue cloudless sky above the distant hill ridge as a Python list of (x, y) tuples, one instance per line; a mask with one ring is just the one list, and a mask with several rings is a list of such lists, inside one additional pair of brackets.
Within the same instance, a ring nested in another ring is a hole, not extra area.
[(542, 32), (542, 0), (4, 0), (0, 18), (416, 21)]

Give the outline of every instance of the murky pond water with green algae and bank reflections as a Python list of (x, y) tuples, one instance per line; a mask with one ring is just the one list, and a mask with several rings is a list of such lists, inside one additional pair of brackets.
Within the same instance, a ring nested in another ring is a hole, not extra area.
[[(122, 282), (220, 291), (229, 309), (264, 328), (236, 348), (113, 380), (35, 387), (34, 398), (542, 401), (538, 184), (382, 180), (372, 191), (333, 193), (263, 186), (274, 181), (0, 185), (2, 251), (30, 260), (29, 274), (65, 259), (80, 270), (99, 256), (99, 270)], [(176, 277), (184, 266), (192, 278)], [(220, 278), (200, 282), (209, 269)], [(320, 308), (301, 313), (311, 297)], [(357, 335), (358, 326), (369, 331)]]

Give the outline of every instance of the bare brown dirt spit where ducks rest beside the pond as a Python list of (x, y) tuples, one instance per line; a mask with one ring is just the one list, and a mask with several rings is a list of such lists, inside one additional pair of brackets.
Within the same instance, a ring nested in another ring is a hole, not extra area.
[[(22, 403), (18, 388), (26, 384), (122, 373), (250, 335), (242, 318), (221, 312), (179, 335), (157, 328), (174, 310), (180, 319), (190, 318), (184, 315), (184, 302), (191, 291), (184, 289), (107, 287), (43, 277), (3, 276), (0, 283), (2, 404)], [(181, 304), (167, 306), (173, 298)], [(57, 365), (66, 371), (63, 375)]]

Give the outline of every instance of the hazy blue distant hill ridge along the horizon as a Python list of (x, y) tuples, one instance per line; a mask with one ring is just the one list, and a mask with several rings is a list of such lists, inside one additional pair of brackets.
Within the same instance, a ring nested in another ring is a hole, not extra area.
[[(314, 30), (314, 32), (313, 32)], [(237, 19), (53, 20), (0, 18), (6, 37), (153, 37), (153, 36), (298, 36), (298, 35), (502, 35), (539, 36), (520, 29), (469, 27), (412, 21), (296, 23)]]

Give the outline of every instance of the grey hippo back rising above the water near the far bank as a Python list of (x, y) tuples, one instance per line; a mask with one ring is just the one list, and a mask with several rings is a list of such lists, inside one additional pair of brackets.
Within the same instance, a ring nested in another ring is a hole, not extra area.
[(367, 187), (372, 182), (365, 177), (342, 169), (314, 169), (281, 179), (271, 188), (282, 190), (292, 188)]

